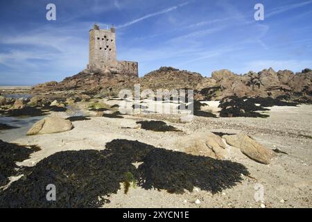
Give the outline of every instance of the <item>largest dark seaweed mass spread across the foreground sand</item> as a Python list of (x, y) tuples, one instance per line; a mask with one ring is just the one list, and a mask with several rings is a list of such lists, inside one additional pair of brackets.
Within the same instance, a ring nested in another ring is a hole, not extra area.
[[(136, 168), (132, 163), (143, 162)], [(248, 176), (239, 163), (114, 139), (103, 151), (62, 151), (38, 162), (0, 193), (0, 207), (101, 207), (128, 181), (181, 194), (200, 187), (213, 194)], [(55, 185), (56, 200), (46, 200)], [(128, 186), (130, 189), (130, 186)]]

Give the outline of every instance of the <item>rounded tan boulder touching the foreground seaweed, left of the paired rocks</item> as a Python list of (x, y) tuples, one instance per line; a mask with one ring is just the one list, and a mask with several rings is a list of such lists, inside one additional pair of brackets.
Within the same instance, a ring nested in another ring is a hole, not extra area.
[(226, 144), (223, 139), (214, 133), (194, 133), (186, 139), (179, 139), (177, 147), (191, 155), (201, 155), (215, 159), (227, 156)]

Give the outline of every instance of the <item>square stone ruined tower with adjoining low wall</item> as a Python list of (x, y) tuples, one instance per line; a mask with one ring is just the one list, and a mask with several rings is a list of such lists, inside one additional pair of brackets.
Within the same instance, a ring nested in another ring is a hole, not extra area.
[(116, 74), (138, 76), (137, 62), (117, 61), (115, 28), (100, 29), (97, 24), (89, 31), (90, 71), (110, 71)]

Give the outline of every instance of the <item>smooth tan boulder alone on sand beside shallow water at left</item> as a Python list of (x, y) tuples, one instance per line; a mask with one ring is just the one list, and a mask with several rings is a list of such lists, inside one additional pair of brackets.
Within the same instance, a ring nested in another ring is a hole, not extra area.
[(73, 124), (67, 119), (59, 117), (46, 117), (37, 121), (33, 127), (28, 130), (27, 135), (49, 134), (49, 133), (62, 133), (71, 130)]

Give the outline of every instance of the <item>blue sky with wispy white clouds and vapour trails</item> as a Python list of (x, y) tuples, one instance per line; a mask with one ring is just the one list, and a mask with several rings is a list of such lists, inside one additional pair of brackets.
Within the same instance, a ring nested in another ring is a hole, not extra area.
[[(46, 20), (48, 3), (56, 21)], [(264, 21), (254, 20), (256, 3)], [(203, 76), (312, 67), (312, 0), (7, 0), (0, 2), (0, 85), (85, 69), (94, 22), (116, 26), (117, 57), (139, 62), (139, 76), (162, 66)]]

